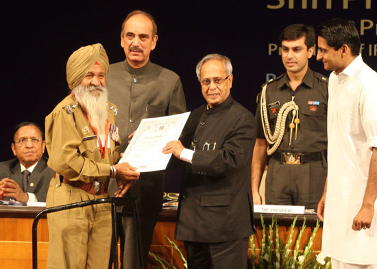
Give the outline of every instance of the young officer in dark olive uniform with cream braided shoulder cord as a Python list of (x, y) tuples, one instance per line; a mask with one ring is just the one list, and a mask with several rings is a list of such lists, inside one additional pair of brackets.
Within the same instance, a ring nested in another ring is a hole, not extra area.
[(280, 42), (287, 72), (264, 84), (257, 98), (253, 199), (262, 203), (260, 180), (271, 156), (266, 204), (317, 209), (327, 176), (328, 78), (308, 68), (315, 44), (312, 27), (289, 25)]

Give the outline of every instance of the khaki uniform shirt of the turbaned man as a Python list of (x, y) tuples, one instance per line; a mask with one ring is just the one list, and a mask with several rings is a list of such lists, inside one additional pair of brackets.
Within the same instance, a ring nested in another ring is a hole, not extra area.
[[(116, 107), (108, 102), (108, 121), (114, 125)], [(88, 119), (73, 94), (69, 94), (46, 117), (46, 146), (49, 153), (48, 165), (58, 174), (72, 181), (89, 183), (93, 179), (106, 181), (110, 177), (110, 165), (119, 160), (117, 148), (120, 141), (114, 141), (110, 134), (110, 148), (103, 159), (97, 138)], [(56, 177), (58, 178), (58, 177)]]

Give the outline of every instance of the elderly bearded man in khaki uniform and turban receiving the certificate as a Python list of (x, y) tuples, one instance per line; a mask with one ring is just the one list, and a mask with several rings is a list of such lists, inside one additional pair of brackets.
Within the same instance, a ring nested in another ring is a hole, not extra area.
[[(108, 56), (101, 44), (75, 51), (66, 64), (71, 94), (46, 117), (48, 165), (55, 175), (47, 207), (108, 197), (110, 177), (123, 196), (140, 173), (116, 164), (120, 145), (117, 107), (108, 101)], [(116, 165), (114, 165), (116, 164)], [(47, 268), (107, 268), (111, 244), (110, 205), (49, 214)]]

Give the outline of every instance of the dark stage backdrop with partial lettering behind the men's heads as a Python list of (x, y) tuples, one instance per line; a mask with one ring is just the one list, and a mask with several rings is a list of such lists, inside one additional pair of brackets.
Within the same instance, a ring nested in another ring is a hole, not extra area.
[[(73, 51), (101, 42), (110, 63), (124, 60), (121, 23), (136, 9), (155, 17), (158, 42), (151, 61), (180, 75), (188, 110), (204, 103), (195, 65), (207, 53), (221, 53), (232, 60), (234, 99), (255, 113), (260, 85), (284, 72), (278, 40), (292, 23), (315, 27), (334, 17), (353, 19), (363, 59), (377, 70), (376, 0), (3, 1), (0, 160), (13, 157), (17, 123), (44, 127), (45, 116), (69, 94), (65, 64)], [(315, 57), (310, 66), (329, 75)], [(173, 181), (167, 190), (177, 190)]]

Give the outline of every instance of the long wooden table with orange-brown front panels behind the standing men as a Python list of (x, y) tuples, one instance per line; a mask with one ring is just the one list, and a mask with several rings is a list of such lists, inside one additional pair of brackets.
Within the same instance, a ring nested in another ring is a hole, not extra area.
[[(32, 223), (36, 214), (44, 207), (14, 207), (0, 205), (0, 260), (3, 269), (25, 269), (32, 268)], [(275, 214), (279, 224), (279, 235), (282, 240), (289, 237), (290, 226), (295, 216), (290, 214)], [(313, 214), (299, 215), (294, 230), (293, 241), (297, 239), (299, 227), (306, 218), (306, 229), (302, 235), (300, 248), (308, 242), (315, 227), (317, 216)], [(160, 213), (158, 223), (154, 229), (154, 237), (151, 244), (151, 251), (156, 255), (162, 256), (167, 261), (174, 264), (177, 268), (184, 268), (178, 253), (173, 249), (166, 238), (174, 238), (175, 229), (175, 210), (164, 209)], [(256, 251), (260, 250), (260, 240), (262, 238), (262, 227), (260, 225), (260, 214), (254, 214), (256, 233)], [(265, 225), (271, 223), (272, 214), (263, 214)], [(42, 218), (38, 223), (38, 268), (45, 269), (47, 261), (47, 248), (49, 234), (47, 219)], [(313, 251), (319, 253), (321, 250), (321, 227), (313, 242)], [(182, 253), (184, 245), (182, 242), (173, 240), (178, 245)], [(291, 246), (293, 248), (293, 246)], [(251, 249), (250, 249), (251, 251)], [(154, 261), (149, 257), (147, 268), (151, 268)]]

